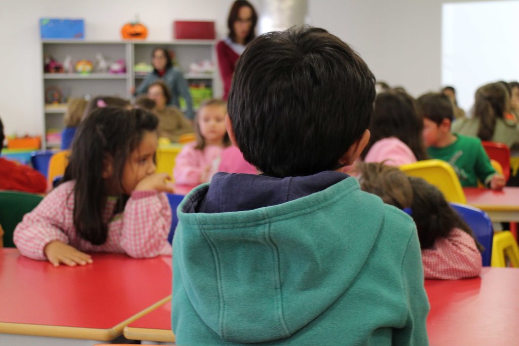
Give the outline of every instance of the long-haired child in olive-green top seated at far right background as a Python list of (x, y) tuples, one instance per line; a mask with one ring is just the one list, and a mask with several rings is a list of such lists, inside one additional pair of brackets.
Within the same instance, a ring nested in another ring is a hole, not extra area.
[(482, 141), (504, 143), (509, 148), (519, 145), (517, 121), (513, 117), (504, 119), (509, 103), (508, 90), (502, 84), (487, 84), (476, 91), (472, 118), (456, 120), (452, 131), (477, 136)]

